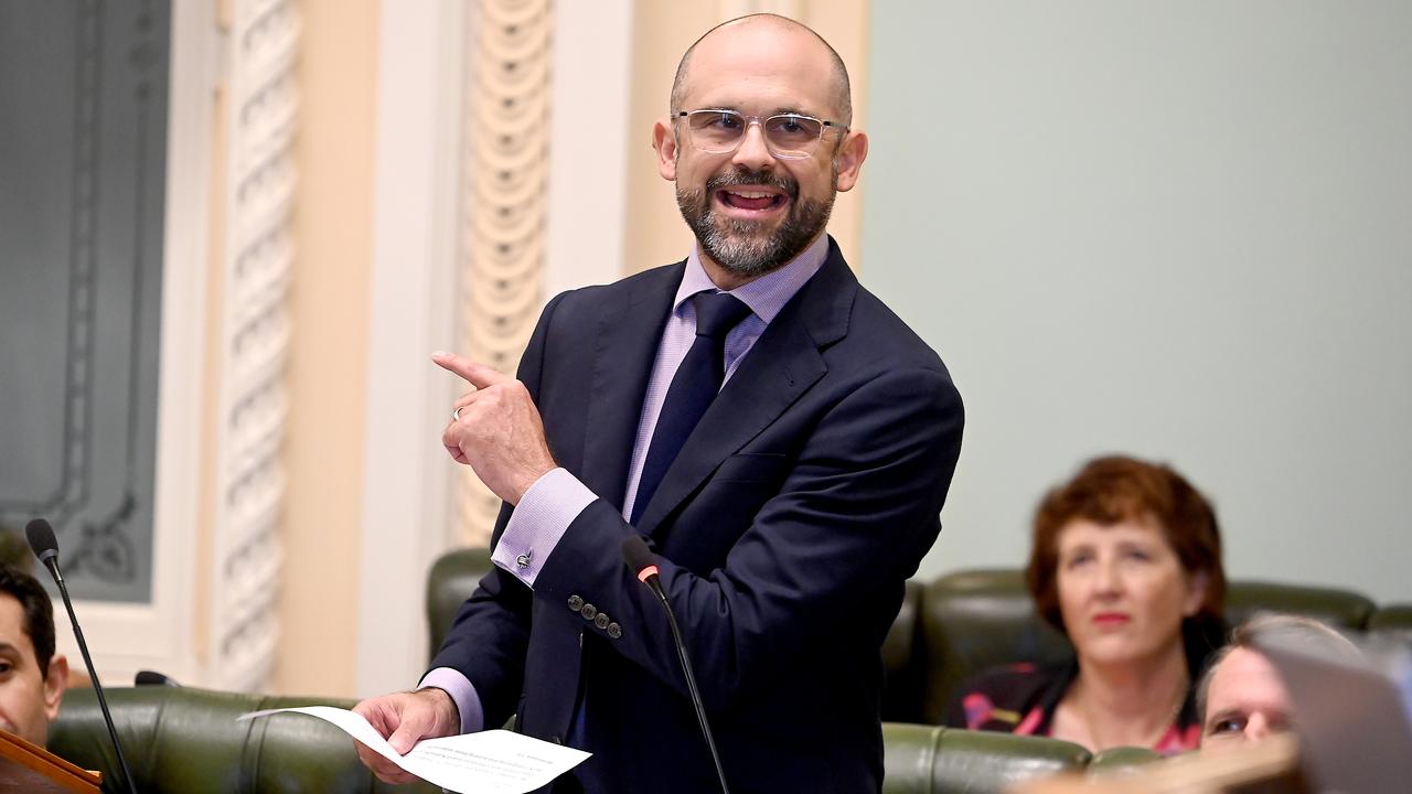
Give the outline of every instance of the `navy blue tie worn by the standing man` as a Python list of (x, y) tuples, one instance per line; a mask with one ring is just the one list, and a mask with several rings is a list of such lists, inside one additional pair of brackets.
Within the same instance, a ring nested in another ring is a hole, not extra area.
[(692, 297), (692, 304), (696, 305), (696, 340), (682, 359), (682, 366), (676, 367), (672, 386), (662, 401), (662, 413), (657, 417), (637, 497), (633, 500), (634, 526), (657, 493), (657, 486), (662, 483), (662, 475), (726, 380), (726, 333), (750, 314), (750, 307), (740, 298), (724, 292), (698, 292)]

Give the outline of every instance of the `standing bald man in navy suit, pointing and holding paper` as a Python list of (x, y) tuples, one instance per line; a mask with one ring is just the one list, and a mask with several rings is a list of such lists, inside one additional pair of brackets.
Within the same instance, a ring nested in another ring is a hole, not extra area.
[(505, 506), (496, 568), (419, 687), (357, 706), (400, 752), (514, 716), (593, 753), (556, 794), (719, 791), (668, 620), (623, 564), (637, 534), (733, 790), (880, 790), (878, 647), (940, 530), (963, 417), (825, 232), (868, 151), (850, 123), (812, 30), (713, 28), (652, 129), (686, 259), (551, 301), (518, 379), (435, 356), (472, 387), (442, 442)]

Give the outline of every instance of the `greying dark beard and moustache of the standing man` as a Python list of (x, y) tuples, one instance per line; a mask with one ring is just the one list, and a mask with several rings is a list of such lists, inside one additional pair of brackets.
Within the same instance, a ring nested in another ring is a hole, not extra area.
[[(722, 218), (712, 209), (716, 191), (731, 185), (770, 185), (789, 196), (789, 212), (771, 230), (765, 220)], [(733, 275), (754, 278), (778, 270), (819, 236), (829, 223), (836, 188), (823, 199), (799, 201), (799, 182), (784, 174), (736, 168), (706, 181), (705, 188), (676, 188), (676, 206), (696, 235), (696, 243)]]

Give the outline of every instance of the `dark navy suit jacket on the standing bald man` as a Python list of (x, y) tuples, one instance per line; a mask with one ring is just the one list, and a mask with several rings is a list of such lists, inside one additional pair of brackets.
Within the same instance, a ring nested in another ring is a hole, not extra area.
[[(518, 730), (554, 742), (582, 688), (594, 756), (576, 774), (590, 794), (717, 791), (662, 608), (623, 564), (635, 531), (659, 555), (731, 790), (878, 791), (878, 647), (940, 530), (960, 397), (830, 240), (634, 530), (621, 517), (628, 461), (682, 268), (545, 308), (520, 379), (555, 459), (600, 499), (532, 592), (487, 575), (431, 667), (474, 684), (486, 725), (518, 715)], [(607, 620), (585, 617), (594, 612)]]

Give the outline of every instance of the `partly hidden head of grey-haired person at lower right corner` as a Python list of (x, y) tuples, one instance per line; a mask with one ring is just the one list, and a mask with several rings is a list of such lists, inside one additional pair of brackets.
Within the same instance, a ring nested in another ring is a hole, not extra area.
[(1279, 671), (1255, 647), (1260, 639), (1288, 637), (1344, 658), (1358, 648), (1329, 626), (1298, 615), (1262, 615), (1231, 632), (1230, 644), (1211, 657), (1196, 685), (1202, 750), (1226, 752), (1289, 730), (1293, 704)]

